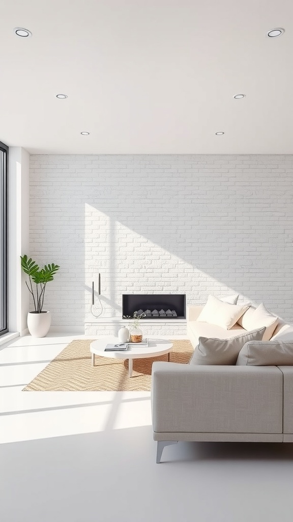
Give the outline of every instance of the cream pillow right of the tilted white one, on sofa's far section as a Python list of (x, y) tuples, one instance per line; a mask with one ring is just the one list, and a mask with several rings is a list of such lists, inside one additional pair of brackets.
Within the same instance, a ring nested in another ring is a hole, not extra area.
[(271, 312), (268, 312), (264, 304), (261, 303), (257, 308), (251, 306), (238, 320), (238, 323), (246, 330), (255, 330), (255, 328), (265, 326), (266, 330), (262, 340), (268, 341), (271, 339), (278, 321), (279, 318)]

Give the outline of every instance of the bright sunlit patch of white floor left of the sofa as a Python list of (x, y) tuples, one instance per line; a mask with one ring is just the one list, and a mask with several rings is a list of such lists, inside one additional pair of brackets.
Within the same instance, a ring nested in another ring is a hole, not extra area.
[(0, 443), (151, 425), (150, 392), (22, 392), (77, 337), (26, 336), (0, 351)]

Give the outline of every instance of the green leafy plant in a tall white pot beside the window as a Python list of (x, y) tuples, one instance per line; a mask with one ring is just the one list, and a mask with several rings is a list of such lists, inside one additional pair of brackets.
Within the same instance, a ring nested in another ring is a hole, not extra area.
[[(33, 298), (34, 311), (28, 313), (28, 329), (33, 337), (45, 337), (51, 326), (51, 312), (43, 310), (44, 296), (46, 284), (53, 281), (54, 275), (59, 270), (58, 265), (45, 265), (40, 268), (39, 265), (28, 259), (25, 254), (21, 259), (21, 268), (29, 276), (29, 284), (26, 285)], [(35, 287), (33, 287), (33, 283)]]

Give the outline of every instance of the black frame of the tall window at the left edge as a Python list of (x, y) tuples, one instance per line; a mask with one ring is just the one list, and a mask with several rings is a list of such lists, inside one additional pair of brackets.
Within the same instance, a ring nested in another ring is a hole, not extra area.
[(4, 326), (1, 328), (0, 324), (0, 336), (7, 334), (8, 332), (8, 147), (2, 141), (0, 141), (0, 150), (4, 152), (3, 163), (1, 169), (3, 172), (1, 184), (2, 184), (2, 216), (0, 227), (2, 227), (2, 259), (1, 259), (1, 274), (3, 292), (0, 297), (2, 300), (2, 321), (1, 324)]

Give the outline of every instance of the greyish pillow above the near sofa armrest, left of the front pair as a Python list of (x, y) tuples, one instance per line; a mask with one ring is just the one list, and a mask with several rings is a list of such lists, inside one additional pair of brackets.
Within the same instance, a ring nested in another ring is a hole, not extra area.
[(264, 331), (265, 328), (245, 331), (243, 334), (231, 337), (230, 339), (200, 337), (199, 344), (194, 348), (189, 364), (234, 365), (236, 364), (238, 354), (242, 347), (246, 345), (248, 341), (261, 340)]

